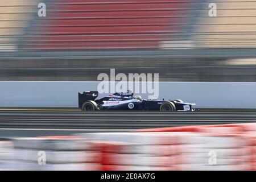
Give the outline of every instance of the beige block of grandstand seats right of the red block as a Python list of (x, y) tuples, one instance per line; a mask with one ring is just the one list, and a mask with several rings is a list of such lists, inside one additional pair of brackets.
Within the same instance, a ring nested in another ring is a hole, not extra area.
[[(216, 2), (217, 16), (202, 11), (193, 39), (197, 47), (253, 48), (256, 47), (256, 1), (222, 0)], [(207, 8), (207, 5), (205, 5)]]

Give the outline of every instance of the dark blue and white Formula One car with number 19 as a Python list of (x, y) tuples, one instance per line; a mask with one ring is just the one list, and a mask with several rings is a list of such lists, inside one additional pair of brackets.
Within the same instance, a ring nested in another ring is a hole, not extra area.
[(191, 103), (181, 100), (142, 100), (141, 96), (134, 96), (128, 90), (127, 93), (114, 93), (96, 100), (97, 91), (79, 93), (79, 108), (82, 111), (94, 110), (160, 110), (160, 111), (199, 111), (193, 109)]

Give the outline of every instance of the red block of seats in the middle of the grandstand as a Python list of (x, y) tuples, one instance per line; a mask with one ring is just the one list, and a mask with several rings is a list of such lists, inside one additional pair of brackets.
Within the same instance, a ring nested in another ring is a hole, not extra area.
[(185, 26), (188, 0), (58, 0), (31, 34), (31, 49), (159, 48)]

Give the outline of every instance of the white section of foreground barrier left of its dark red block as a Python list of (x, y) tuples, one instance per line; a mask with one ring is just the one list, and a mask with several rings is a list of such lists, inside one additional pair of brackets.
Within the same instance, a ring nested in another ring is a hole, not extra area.
[[(81, 170), (86, 154), (85, 140), (77, 137), (14, 138), (6, 160), (13, 170)], [(3, 167), (1, 167), (3, 168)]]

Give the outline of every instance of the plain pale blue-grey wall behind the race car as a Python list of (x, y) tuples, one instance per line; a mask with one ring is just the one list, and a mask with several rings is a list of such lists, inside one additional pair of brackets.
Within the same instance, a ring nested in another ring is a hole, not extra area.
[[(98, 82), (0, 81), (0, 107), (77, 107), (77, 93), (97, 90), (97, 85)], [(140, 95), (147, 98), (147, 94)], [(159, 99), (162, 98), (180, 98), (196, 103), (196, 107), (256, 109), (256, 82), (159, 82)]]

